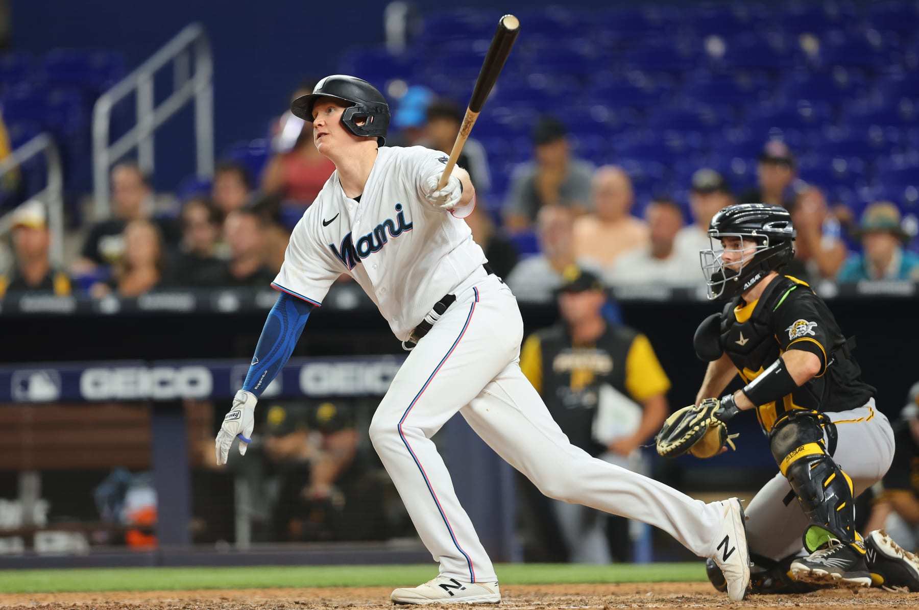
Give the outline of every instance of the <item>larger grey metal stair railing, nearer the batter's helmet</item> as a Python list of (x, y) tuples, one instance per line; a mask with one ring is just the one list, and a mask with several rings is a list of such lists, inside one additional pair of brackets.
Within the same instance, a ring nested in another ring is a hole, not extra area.
[[(158, 70), (172, 62), (175, 91), (156, 105), (153, 81)], [(194, 65), (194, 72), (192, 72)], [(109, 143), (112, 107), (136, 92), (137, 123)], [(93, 108), (93, 192), (96, 218), (107, 218), (108, 171), (133, 149), (146, 174), (153, 173), (153, 132), (185, 104), (195, 100), (195, 146), (199, 177), (214, 172), (213, 59), (204, 28), (193, 23), (153, 53), (146, 62), (96, 100)]]

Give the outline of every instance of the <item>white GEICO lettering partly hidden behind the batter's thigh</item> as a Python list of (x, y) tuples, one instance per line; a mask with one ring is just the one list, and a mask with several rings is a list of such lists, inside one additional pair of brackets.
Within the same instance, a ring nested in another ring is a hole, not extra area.
[(391, 360), (317, 362), (300, 369), (300, 388), (307, 396), (382, 396), (398, 370), (399, 363)]

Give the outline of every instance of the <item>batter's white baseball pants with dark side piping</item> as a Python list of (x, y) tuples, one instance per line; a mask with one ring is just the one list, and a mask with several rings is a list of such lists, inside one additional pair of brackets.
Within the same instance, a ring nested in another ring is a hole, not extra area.
[(516, 299), (478, 270), (415, 346), (370, 423), (370, 439), (440, 573), (496, 580), (431, 436), (454, 413), (540, 491), (660, 527), (700, 557), (714, 551), (720, 507), (573, 446), (524, 377)]

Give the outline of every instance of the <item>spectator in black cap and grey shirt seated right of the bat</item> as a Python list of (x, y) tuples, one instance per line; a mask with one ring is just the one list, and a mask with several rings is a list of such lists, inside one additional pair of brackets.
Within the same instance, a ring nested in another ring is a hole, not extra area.
[(516, 169), (507, 196), (506, 224), (511, 231), (530, 228), (543, 206), (572, 208), (575, 213), (590, 208), (593, 167), (571, 157), (562, 122), (551, 117), (539, 119), (533, 130), (533, 145), (535, 162)]

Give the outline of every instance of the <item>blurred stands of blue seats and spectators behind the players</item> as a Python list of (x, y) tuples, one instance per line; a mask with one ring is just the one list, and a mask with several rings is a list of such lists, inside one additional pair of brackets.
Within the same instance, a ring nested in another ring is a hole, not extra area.
[[(389, 96), (392, 144), (449, 150), (490, 17), (428, 14), (406, 50), (341, 59), (342, 72)], [(612, 286), (698, 286), (708, 221), (734, 201), (792, 210), (793, 274), (919, 279), (915, 3), (550, 8), (521, 19), (526, 35), (460, 160), (479, 194), (473, 234), (521, 299), (549, 299), (573, 262)], [(78, 191), (88, 105), (123, 72), (113, 52), (0, 57), (0, 158), (10, 141), (51, 130)], [(126, 161), (111, 172), (111, 218), (85, 220), (71, 197), (62, 268), (48, 260), (46, 212), (28, 200), (0, 292), (266, 286), (333, 169), (309, 124), (273, 110), (267, 137), (227, 151), (212, 180), (156, 193)], [(34, 183), (28, 167), (6, 175), (2, 209)]]

